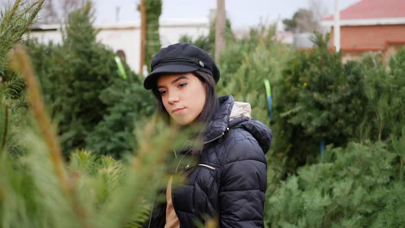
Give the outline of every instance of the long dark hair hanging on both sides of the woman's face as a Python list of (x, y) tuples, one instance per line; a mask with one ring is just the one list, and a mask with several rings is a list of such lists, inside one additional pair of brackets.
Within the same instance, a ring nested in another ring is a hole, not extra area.
[[(216, 82), (209, 73), (204, 71), (194, 71), (194, 76), (196, 76), (201, 82), (205, 84), (205, 104), (203, 107), (203, 111), (201, 111), (200, 115), (198, 115), (196, 122), (201, 124), (203, 127), (198, 133), (196, 133), (196, 141), (203, 142), (204, 130), (207, 128), (207, 124), (215, 115), (218, 109), (218, 96), (216, 93)], [(161, 93), (159, 93), (157, 87), (155, 86), (152, 89), (154, 96), (157, 98), (157, 115), (161, 116), (165, 122), (170, 123), (170, 115), (167, 113), (165, 106), (163, 105)], [(203, 148), (193, 148), (192, 155), (197, 157), (198, 159), (202, 156)]]

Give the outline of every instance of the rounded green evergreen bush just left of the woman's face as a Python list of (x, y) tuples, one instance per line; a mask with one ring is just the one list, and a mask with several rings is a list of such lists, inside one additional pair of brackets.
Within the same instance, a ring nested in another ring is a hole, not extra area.
[(132, 152), (138, 143), (133, 137), (135, 126), (154, 113), (156, 99), (143, 88), (140, 78), (115, 79), (100, 99), (108, 106), (108, 113), (86, 137), (87, 147), (117, 158)]

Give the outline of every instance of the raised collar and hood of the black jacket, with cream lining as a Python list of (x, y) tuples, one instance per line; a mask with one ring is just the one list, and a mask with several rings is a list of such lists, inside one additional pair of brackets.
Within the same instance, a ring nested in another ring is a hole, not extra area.
[(218, 139), (227, 132), (227, 128), (243, 128), (255, 137), (264, 154), (266, 154), (270, 149), (273, 134), (265, 124), (251, 119), (250, 104), (235, 102), (231, 95), (224, 95), (218, 100), (219, 106), (213, 119), (208, 124), (204, 142), (207, 143)]

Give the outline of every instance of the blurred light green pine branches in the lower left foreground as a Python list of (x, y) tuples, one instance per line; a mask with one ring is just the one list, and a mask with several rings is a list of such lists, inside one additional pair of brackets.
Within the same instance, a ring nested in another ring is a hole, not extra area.
[[(64, 168), (62, 190), (43, 139), (25, 129), (27, 153), (0, 152), (1, 227), (142, 227), (157, 189), (167, 183), (166, 152), (185, 135), (150, 122), (137, 132), (137, 156), (123, 161), (76, 150)], [(176, 140), (174, 140), (176, 138)]]

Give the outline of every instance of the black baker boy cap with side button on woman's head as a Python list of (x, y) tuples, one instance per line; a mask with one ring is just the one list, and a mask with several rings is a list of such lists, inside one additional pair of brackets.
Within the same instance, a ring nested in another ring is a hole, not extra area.
[(162, 48), (151, 63), (152, 72), (143, 81), (145, 89), (156, 86), (158, 76), (166, 73), (205, 71), (220, 80), (220, 70), (207, 52), (189, 43), (176, 43)]

